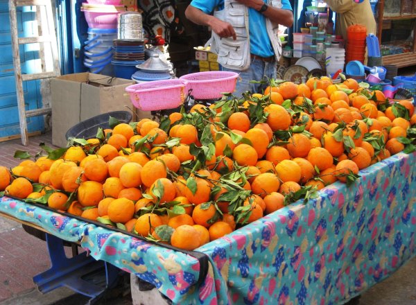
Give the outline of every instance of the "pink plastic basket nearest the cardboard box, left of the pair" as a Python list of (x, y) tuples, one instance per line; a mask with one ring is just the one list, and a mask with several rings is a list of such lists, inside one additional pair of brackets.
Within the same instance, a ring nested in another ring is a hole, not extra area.
[(185, 80), (155, 80), (125, 88), (130, 101), (143, 111), (155, 111), (179, 107), (186, 98)]

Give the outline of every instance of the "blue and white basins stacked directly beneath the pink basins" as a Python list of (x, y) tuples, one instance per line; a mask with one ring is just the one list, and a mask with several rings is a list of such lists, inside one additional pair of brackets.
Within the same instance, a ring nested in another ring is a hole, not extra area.
[(112, 44), (117, 37), (116, 28), (89, 28), (88, 40), (85, 42), (84, 65), (92, 73), (114, 76)]

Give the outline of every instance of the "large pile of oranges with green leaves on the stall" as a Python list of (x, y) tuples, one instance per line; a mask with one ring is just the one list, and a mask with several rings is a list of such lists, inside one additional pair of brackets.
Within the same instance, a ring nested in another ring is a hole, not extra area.
[(411, 151), (413, 113), (412, 101), (389, 103), (353, 79), (283, 82), (160, 123), (98, 130), (62, 156), (0, 166), (0, 191), (194, 250)]

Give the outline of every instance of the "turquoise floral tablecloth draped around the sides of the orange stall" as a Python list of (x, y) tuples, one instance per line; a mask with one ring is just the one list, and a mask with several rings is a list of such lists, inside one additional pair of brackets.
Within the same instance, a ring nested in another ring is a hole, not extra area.
[(80, 241), (95, 259), (134, 272), (177, 304), (341, 304), (416, 254), (416, 153), (361, 171), (189, 254), (55, 214), (11, 198), (0, 211)]

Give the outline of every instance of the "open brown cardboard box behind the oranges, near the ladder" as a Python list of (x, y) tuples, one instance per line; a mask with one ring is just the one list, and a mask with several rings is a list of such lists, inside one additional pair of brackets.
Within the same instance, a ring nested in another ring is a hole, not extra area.
[(75, 73), (51, 79), (52, 143), (67, 146), (65, 134), (76, 123), (105, 112), (133, 108), (125, 87), (132, 80), (94, 73)]

